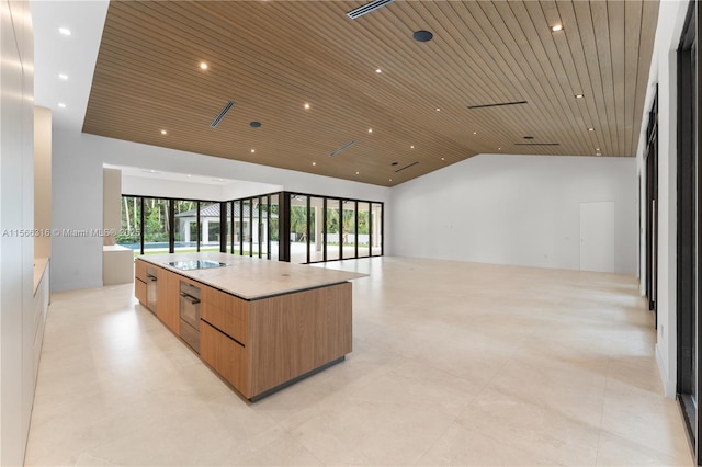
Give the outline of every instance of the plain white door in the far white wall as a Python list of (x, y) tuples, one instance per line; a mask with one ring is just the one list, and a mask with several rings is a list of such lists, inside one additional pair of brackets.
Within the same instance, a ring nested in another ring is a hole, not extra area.
[(614, 202), (580, 203), (580, 271), (614, 272)]

